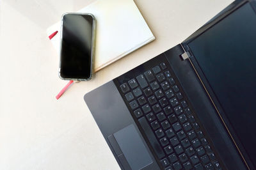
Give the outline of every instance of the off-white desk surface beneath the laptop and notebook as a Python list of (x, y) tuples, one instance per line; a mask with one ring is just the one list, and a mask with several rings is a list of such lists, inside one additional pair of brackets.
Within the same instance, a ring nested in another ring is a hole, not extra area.
[(135, 0), (156, 40), (55, 96), (46, 28), (92, 0), (0, 0), (0, 169), (119, 169), (83, 95), (185, 40), (232, 0)]

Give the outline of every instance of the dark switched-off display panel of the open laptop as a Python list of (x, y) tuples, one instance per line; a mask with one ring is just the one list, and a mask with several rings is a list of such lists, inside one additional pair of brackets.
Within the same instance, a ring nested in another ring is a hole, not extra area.
[(246, 3), (188, 44), (256, 166), (256, 13)]

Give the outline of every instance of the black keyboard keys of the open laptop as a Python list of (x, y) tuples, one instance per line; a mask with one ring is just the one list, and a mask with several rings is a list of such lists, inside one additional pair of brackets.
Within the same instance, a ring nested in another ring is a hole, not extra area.
[(134, 75), (120, 89), (164, 169), (221, 169), (165, 63)]

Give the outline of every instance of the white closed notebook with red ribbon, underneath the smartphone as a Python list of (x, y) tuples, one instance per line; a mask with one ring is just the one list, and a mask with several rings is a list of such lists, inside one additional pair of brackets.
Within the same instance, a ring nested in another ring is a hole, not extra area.
[[(96, 18), (94, 72), (155, 40), (147, 23), (132, 0), (98, 0), (78, 11)], [(47, 29), (47, 35), (60, 50), (60, 22)]]

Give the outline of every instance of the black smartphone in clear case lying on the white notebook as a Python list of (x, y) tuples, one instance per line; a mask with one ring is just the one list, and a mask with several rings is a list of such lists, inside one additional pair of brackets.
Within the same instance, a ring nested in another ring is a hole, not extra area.
[(86, 81), (92, 77), (95, 17), (90, 13), (65, 13), (61, 19), (59, 77)]

